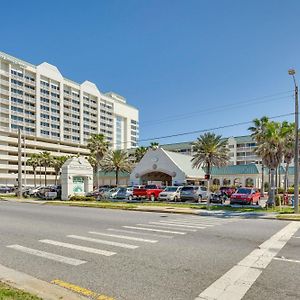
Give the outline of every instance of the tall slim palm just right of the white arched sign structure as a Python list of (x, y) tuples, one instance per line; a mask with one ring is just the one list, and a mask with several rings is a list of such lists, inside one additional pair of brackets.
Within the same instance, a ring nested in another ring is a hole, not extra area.
[(96, 176), (97, 176), (97, 187), (99, 187), (99, 171), (100, 171), (100, 162), (103, 159), (104, 155), (108, 151), (109, 143), (106, 141), (103, 134), (92, 134), (87, 148), (90, 150), (91, 155), (96, 159)]

